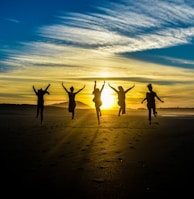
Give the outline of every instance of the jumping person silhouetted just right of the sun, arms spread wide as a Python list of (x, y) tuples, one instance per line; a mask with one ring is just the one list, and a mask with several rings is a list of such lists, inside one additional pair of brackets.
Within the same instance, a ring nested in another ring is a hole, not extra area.
[(125, 114), (126, 112), (126, 105), (125, 105), (125, 94), (130, 91), (132, 88), (135, 87), (135, 84), (128, 88), (127, 90), (124, 90), (122, 86), (118, 86), (118, 90), (115, 89), (114, 87), (112, 87), (110, 84), (108, 84), (118, 95), (118, 105), (120, 106), (119, 108), (119, 113), (118, 116), (120, 116), (120, 114)]

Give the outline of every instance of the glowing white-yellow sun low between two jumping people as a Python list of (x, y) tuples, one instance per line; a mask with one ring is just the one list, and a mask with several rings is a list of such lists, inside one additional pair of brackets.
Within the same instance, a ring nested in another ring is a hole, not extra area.
[(101, 94), (102, 108), (108, 109), (113, 108), (115, 105), (115, 98), (112, 95), (112, 91), (109, 89), (104, 89)]

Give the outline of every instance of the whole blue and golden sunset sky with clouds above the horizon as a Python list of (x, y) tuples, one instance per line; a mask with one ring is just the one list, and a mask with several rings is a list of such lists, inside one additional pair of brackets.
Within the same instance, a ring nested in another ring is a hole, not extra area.
[(111, 105), (108, 86), (135, 87), (127, 108), (141, 108), (147, 84), (165, 101), (158, 107), (194, 107), (194, 1), (0, 1), (0, 103), (45, 104), (76, 100), (93, 106), (94, 81)]

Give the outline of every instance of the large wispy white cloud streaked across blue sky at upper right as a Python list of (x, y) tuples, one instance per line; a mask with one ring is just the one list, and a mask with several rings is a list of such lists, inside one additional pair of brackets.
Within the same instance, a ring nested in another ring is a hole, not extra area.
[(98, 10), (67, 13), (60, 17), (61, 24), (43, 27), (39, 34), (53, 42), (110, 53), (185, 44), (194, 36), (194, 9), (181, 1), (126, 1)]

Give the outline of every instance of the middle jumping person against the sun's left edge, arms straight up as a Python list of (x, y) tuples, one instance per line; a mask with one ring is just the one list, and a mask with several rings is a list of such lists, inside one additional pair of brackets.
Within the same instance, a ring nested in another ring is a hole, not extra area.
[(94, 90), (92, 94), (94, 95), (93, 102), (95, 103), (98, 124), (100, 124), (100, 116), (102, 115), (100, 107), (102, 106), (101, 93), (102, 93), (102, 90), (104, 89), (104, 85), (105, 85), (105, 81), (101, 89), (96, 88), (96, 81), (94, 81)]

